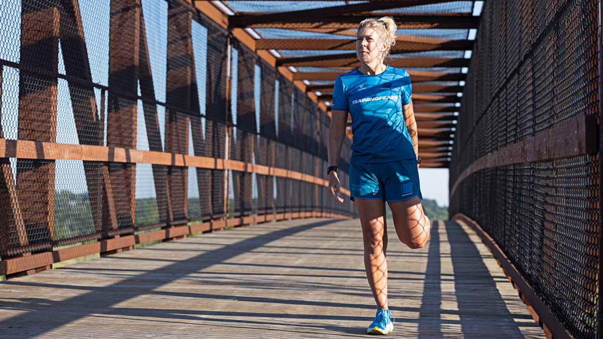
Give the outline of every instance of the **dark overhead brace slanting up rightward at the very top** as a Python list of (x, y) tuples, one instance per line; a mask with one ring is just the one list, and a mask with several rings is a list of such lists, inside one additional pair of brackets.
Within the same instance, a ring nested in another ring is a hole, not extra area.
[(418, 5), (437, 4), (453, 0), (399, 0), (383, 2), (365, 2), (362, 4), (340, 5), (332, 7), (312, 8), (309, 10), (284, 11), (279, 13), (253, 13), (236, 15), (229, 18), (229, 28), (242, 28), (257, 24), (289, 21), (315, 21), (318, 18), (339, 16), (341, 14), (359, 13), (364, 11), (387, 10), (390, 8), (414, 7)]

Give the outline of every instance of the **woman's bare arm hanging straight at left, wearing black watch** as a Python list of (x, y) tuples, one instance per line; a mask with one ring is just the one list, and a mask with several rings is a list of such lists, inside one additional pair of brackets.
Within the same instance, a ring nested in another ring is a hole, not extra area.
[[(329, 144), (327, 153), (329, 155), (329, 166), (337, 166), (339, 156), (341, 156), (341, 147), (346, 138), (347, 112), (344, 110), (333, 110), (331, 113), (331, 124), (329, 126)], [(335, 200), (343, 203), (343, 198), (339, 197), (339, 178), (336, 172), (329, 173), (329, 192)]]

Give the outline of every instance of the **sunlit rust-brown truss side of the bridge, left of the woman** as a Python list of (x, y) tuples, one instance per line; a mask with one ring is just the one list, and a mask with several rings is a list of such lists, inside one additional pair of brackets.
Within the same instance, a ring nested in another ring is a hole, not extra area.
[(326, 113), (191, 4), (8, 0), (0, 24), (0, 276), (159, 227), (355, 214), (326, 192)]

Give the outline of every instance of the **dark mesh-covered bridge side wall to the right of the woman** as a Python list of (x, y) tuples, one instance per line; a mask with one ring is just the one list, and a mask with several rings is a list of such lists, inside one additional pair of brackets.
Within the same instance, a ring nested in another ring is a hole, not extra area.
[(485, 2), (450, 165), (450, 215), (475, 220), (576, 338), (601, 335), (599, 5)]

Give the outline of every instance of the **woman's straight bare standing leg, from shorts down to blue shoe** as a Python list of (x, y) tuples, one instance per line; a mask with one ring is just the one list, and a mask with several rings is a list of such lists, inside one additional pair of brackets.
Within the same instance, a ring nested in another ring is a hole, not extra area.
[(387, 305), (387, 261), (385, 261), (385, 202), (355, 198), (362, 225), (364, 268), (377, 308)]

